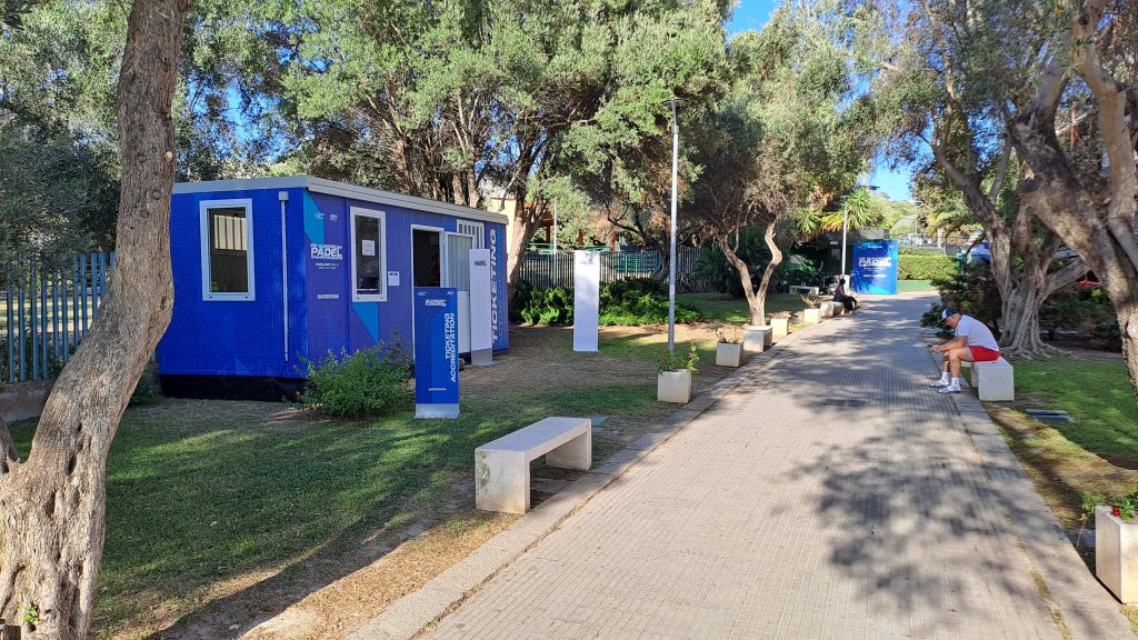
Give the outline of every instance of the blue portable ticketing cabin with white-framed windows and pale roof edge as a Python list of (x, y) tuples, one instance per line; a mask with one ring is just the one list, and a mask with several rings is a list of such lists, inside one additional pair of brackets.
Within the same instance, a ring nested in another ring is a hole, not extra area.
[(175, 184), (170, 224), (168, 395), (280, 400), (303, 359), (380, 340), (412, 354), (417, 286), (460, 290), (468, 353), (471, 248), (490, 249), (494, 351), (509, 348), (504, 215), (297, 175)]

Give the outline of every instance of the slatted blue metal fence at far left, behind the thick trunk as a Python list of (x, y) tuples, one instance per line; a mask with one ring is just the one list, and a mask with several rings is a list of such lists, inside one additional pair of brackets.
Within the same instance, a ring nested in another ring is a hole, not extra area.
[(0, 293), (0, 383), (44, 380), (71, 360), (99, 314), (115, 254), (76, 256), (69, 271), (9, 265)]

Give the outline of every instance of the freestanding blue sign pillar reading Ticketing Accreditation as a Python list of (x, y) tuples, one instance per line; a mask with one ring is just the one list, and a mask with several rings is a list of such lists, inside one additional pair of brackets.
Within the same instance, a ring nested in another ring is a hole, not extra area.
[(459, 417), (459, 290), (415, 288), (415, 418)]

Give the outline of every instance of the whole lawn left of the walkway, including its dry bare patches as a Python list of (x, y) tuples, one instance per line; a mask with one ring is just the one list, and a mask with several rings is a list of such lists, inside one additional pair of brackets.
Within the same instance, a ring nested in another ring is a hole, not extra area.
[[(728, 372), (714, 367), (709, 326), (677, 326), (676, 338), (677, 353), (696, 345), (701, 384)], [(600, 353), (574, 353), (567, 328), (512, 329), (511, 339), (497, 366), (463, 372), (457, 420), (415, 420), (410, 408), (332, 420), (261, 402), (164, 400), (129, 409), (108, 460), (93, 635), (215, 637), (247, 623), (246, 612), (281, 599), (290, 606), (292, 593), (344, 581), (324, 597), (328, 624), (366, 616), (429, 580), (427, 568), (444, 563), (435, 557), (454, 561), (512, 522), (472, 509), (478, 445), (549, 416), (607, 416), (594, 436), (599, 463), (675, 409), (655, 401), (666, 327), (602, 329)], [(13, 425), (25, 456), (33, 429), (33, 421)], [(423, 528), (434, 547), (405, 563), (412, 577), (352, 583)], [(470, 530), (481, 533), (467, 536)], [(374, 551), (353, 560), (361, 549)], [(389, 599), (356, 606), (357, 593), (380, 585)]]

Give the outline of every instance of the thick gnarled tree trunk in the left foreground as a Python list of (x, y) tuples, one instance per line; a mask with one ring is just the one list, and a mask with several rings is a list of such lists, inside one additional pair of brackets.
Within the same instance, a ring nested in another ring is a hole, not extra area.
[(25, 462), (0, 475), (0, 617), (24, 638), (91, 626), (106, 532), (106, 462), (173, 303), (171, 98), (189, 0), (137, 0), (119, 77), (118, 263), (98, 322), (59, 375)]

